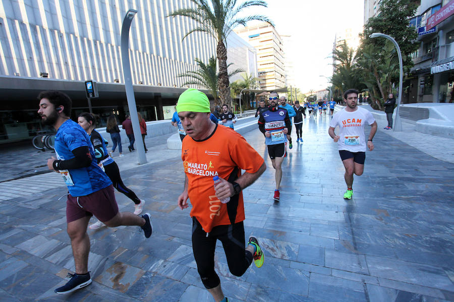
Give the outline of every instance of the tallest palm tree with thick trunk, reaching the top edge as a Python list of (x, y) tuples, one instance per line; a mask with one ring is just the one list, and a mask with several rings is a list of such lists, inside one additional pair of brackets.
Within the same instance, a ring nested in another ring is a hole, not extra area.
[(196, 28), (191, 29), (183, 37), (194, 32), (204, 32), (212, 36), (216, 42), (216, 54), (219, 62), (218, 88), (219, 97), (224, 104), (230, 104), (230, 81), (227, 71), (226, 38), (238, 25), (246, 26), (252, 20), (264, 21), (273, 25), (266, 16), (252, 15), (238, 17), (246, 8), (254, 6), (267, 7), (263, 0), (246, 0), (237, 6), (237, 0), (191, 0), (196, 8), (185, 8), (172, 12), (168, 17), (183, 16), (195, 21)]

